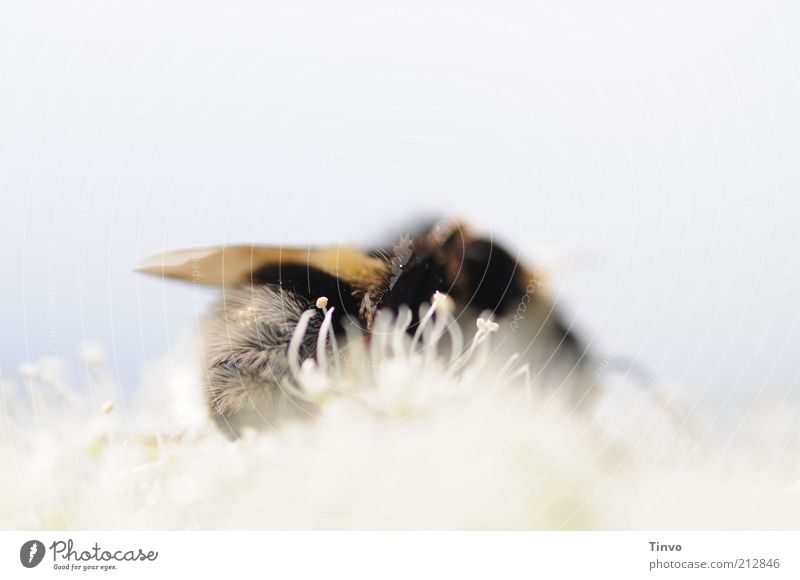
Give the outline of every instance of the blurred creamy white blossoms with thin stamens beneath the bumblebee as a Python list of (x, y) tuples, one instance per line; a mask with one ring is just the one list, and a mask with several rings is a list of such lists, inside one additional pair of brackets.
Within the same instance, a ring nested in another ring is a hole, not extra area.
[(0, 391), (0, 525), (800, 524), (796, 407), (764, 397), (747, 419), (723, 429), (713, 413), (612, 375), (577, 403), (499, 356), (497, 324), (481, 319), (464, 338), (446, 304), (434, 302), (415, 336), (401, 314), (379, 318), (369, 343), (320, 341), (323, 352), (293, 364), (282, 385), (315, 412), (237, 440), (208, 419), (191, 340), (145, 369), (125, 397), (98, 345), (79, 349), (80, 388), (60, 359), (22, 365)]

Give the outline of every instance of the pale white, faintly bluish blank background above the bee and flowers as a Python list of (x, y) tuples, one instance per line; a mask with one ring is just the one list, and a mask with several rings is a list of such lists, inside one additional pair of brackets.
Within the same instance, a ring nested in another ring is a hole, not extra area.
[(130, 387), (213, 297), (162, 249), (369, 242), (451, 212), (596, 352), (727, 398), (797, 379), (792, 2), (4, 2), (2, 372)]

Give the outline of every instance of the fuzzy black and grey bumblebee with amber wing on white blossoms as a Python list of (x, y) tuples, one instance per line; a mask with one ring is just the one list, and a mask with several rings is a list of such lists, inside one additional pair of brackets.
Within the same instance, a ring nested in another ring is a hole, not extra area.
[(223, 289), (202, 324), (205, 398), (233, 435), (311, 412), (282, 385), (295, 329), (313, 309), (320, 315), (308, 320), (297, 351), (302, 360), (317, 352), (320, 306), (330, 310), (336, 335), (358, 331), (368, 339), (379, 310), (408, 308), (413, 330), (420, 308), (436, 292), (447, 294), (465, 329), (481, 314), (497, 319), (506, 331), (500, 350), (521, 353), (532, 373), (586, 384), (578, 380), (584, 349), (553, 309), (541, 275), (459, 223), (437, 223), (386, 249), (229, 246), (163, 254), (140, 270)]

